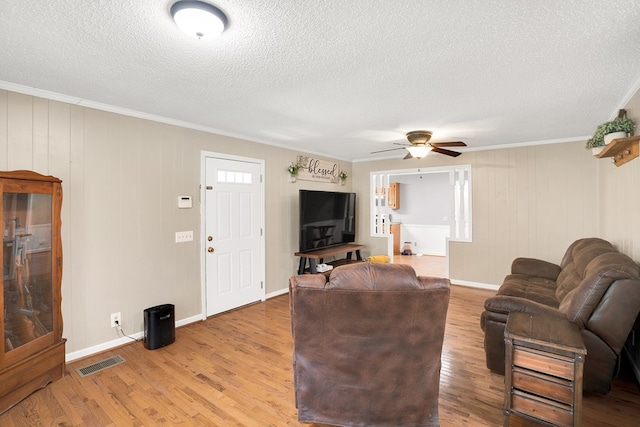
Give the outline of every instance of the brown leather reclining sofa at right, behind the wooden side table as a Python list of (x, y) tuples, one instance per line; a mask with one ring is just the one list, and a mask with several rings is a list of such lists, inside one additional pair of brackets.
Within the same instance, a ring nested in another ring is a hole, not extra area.
[(512, 311), (556, 316), (582, 333), (587, 356), (584, 391), (607, 393), (618, 358), (640, 311), (640, 269), (611, 243), (586, 238), (567, 249), (560, 265), (517, 258), (495, 297), (485, 301), (480, 325), (487, 367), (505, 370), (504, 329)]

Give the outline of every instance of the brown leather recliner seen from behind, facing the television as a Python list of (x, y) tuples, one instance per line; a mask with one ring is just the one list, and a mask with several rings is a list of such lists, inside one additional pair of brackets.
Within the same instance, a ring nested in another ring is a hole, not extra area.
[(363, 262), (289, 279), (298, 420), (437, 426), (449, 280)]

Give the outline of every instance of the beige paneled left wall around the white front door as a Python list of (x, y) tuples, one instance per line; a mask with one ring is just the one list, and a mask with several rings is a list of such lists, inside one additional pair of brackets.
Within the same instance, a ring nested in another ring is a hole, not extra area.
[[(158, 304), (175, 304), (178, 321), (201, 317), (202, 151), (265, 161), (265, 287), (286, 290), (298, 267), (298, 189), (337, 188), (288, 182), (289, 162), (305, 153), (0, 90), (0, 169), (63, 181), (68, 354), (126, 342), (110, 313), (122, 313), (127, 334), (141, 332), (144, 309)], [(340, 168), (352, 176), (350, 164)], [(349, 189), (349, 180), (340, 187)], [(177, 209), (181, 195), (193, 196), (193, 209)], [(184, 230), (194, 242), (176, 244)]]

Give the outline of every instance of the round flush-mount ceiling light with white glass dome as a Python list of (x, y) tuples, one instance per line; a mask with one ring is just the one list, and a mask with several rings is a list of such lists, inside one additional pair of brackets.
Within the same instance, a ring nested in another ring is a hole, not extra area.
[(225, 14), (202, 1), (179, 1), (171, 6), (171, 16), (178, 28), (197, 39), (218, 37), (227, 25)]

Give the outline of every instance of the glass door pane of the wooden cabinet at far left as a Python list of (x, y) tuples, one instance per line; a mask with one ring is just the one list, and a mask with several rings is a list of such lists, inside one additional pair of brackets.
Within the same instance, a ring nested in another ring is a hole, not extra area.
[(4, 353), (53, 331), (51, 194), (2, 193)]

